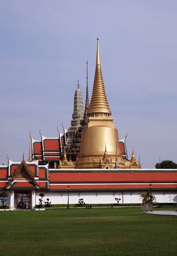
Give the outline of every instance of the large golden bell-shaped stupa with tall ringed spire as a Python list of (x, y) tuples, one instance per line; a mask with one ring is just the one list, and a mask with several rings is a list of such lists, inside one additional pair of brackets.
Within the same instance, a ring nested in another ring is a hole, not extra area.
[(107, 161), (110, 162), (109, 166), (112, 166), (113, 163), (115, 163), (117, 155), (120, 168), (125, 168), (125, 163), (120, 151), (118, 131), (114, 127), (111, 110), (105, 93), (100, 65), (99, 38), (97, 38), (94, 85), (87, 117), (86, 126), (83, 128), (81, 134), (78, 168), (96, 169), (103, 166), (102, 162), (104, 162), (105, 144), (107, 149)]

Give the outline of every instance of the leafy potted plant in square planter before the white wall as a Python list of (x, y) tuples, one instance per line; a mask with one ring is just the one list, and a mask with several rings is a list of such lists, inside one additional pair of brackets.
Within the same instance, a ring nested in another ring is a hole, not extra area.
[(150, 191), (138, 195), (142, 200), (141, 211), (152, 211), (152, 203), (155, 201), (155, 196)]

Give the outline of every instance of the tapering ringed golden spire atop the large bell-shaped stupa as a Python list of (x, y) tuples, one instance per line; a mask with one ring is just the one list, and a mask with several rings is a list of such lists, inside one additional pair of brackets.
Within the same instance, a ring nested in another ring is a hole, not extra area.
[(90, 113), (108, 113), (109, 115), (111, 115), (101, 72), (99, 38), (97, 38), (97, 58), (94, 75), (94, 86), (91, 96), (90, 107), (87, 114)]

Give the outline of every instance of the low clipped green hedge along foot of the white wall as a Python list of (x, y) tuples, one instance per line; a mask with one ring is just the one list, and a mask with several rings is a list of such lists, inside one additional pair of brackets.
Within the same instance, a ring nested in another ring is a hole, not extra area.
[[(163, 206), (177, 206), (177, 203), (154, 203), (154, 206), (157, 206), (159, 204), (162, 204)], [(114, 206), (118, 206), (118, 207), (123, 207), (123, 206), (141, 206), (140, 203), (134, 203), (134, 204), (69, 204), (69, 207), (86, 207), (86, 206), (92, 206), (92, 207), (114, 207)], [(57, 208), (57, 207), (62, 207), (62, 208), (66, 208), (68, 205), (67, 204), (50, 204), (51, 208)], [(36, 208), (40, 208), (39, 204), (36, 204), (35, 206)], [(45, 208), (46, 205), (42, 205), (42, 208)]]

